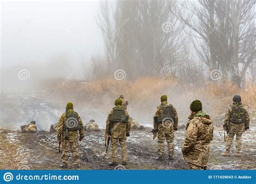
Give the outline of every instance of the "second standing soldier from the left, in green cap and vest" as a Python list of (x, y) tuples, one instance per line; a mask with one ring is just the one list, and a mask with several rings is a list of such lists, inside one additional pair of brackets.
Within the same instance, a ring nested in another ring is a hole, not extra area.
[(106, 120), (106, 139), (111, 138), (111, 157), (112, 161), (109, 162), (110, 166), (117, 166), (117, 142), (121, 146), (122, 151), (122, 165), (127, 164), (127, 148), (126, 137), (130, 136), (130, 117), (128, 112), (122, 108), (122, 100), (117, 99), (114, 101), (114, 107)]

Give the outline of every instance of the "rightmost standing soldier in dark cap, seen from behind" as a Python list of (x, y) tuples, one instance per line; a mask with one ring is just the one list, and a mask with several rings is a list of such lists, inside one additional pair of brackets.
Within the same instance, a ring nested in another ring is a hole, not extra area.
[(227, 109), (225, 115), (224, 129), (227, 132), (226, 151), (221, 155), (230, 156), (230, 147), (235, 135), (237, 139), (237, 144), (235, 145), (237, 153), (235, 155), (241, 157), (242, 133), (249, 129), (249, 123), (250, 117), (248, 111), (241, 103), (241, 96), (234, 95), (233, 104)]

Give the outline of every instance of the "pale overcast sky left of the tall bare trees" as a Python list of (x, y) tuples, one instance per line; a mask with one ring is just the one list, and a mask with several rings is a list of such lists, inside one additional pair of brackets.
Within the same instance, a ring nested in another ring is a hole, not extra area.
[(1, 68), (102, 52), (98, 1), (2, 1)]

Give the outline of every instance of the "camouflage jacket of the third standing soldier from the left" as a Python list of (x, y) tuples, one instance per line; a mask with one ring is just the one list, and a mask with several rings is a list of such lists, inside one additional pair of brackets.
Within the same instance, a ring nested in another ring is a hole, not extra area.
[[(164, 101), (161, 103), (161, 105), (169, 105), (168, 102)], [(158, 117), (160, 114), (163, 113), (163, 109), (161, 108), (161, 105), (157, 106), (156, 112), (154, 112), (154, 117)], [(173, 128), (177, 129), (178, 126), (178, 114), (176, 109), (173, 107), (173, 127), (172, 126), (165, 126), (163, 123), (156, 123), (154, 122), (154, 129), (158, 129), (159, 133), (171, 133), (173, 132)]]

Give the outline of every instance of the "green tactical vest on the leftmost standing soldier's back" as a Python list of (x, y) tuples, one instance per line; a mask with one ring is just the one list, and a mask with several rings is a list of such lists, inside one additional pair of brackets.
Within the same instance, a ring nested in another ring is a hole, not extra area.
[(74, 112), (70, 114), (66, 112), (65, 128), (68, 130), (82, 130), (83, 125), (81, 121), (78, 121), (78, 113)]

